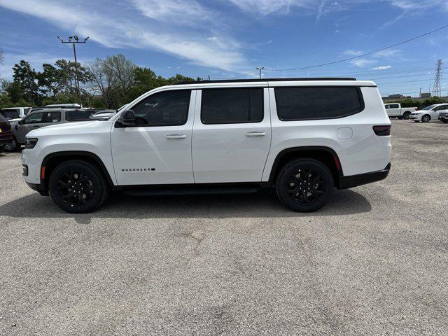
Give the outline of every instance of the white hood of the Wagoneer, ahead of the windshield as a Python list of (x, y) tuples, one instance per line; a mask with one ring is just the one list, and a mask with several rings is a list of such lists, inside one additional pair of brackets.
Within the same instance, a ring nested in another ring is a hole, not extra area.
[(57, 124), (41, 127), (38, 130), (32, 130), (27, 134), (27, 137), (42, 137), (45, 135), (59, 135), (59, 134), (80, 134), (80, 133), (93, 133), (95, 128), (102, 128), (109, 123), (106, 121), (77, 121), (71, 123)]

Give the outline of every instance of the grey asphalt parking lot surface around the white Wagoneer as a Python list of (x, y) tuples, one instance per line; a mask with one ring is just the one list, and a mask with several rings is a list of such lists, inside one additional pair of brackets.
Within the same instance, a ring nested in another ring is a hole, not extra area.
[(113, 195), (70, 215), (0, 155), (0, 335), (446, 335), (448, 125), (314, 214), (269, 193)]

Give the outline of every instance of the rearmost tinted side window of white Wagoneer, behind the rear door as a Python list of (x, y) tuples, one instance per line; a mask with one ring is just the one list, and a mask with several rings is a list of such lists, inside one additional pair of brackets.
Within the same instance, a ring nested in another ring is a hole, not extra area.
[(363, 111), (357, 87), (276, 87), (280, 120), (342, 118)]

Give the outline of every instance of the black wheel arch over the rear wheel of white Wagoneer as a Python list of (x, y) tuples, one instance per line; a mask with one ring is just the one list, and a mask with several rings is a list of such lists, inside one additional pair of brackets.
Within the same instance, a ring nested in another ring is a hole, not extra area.
[(344, 176), (341, 162), (337, 153), (332, 148), (325, 146), (303, 146), (283, 149), (283, 151), (276, 155), (272, 164), (272, 169), (269, 174), (269, 184), (275, 184), (276, 177), (287, 162), (299, 158), (310, 158), (322, 162), (323, 165), (330, 169), (335, 186), (339, 188), (340, 180)]

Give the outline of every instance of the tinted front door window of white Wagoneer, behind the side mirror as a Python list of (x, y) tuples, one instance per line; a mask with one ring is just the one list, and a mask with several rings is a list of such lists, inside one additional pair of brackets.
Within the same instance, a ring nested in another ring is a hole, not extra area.
[(155, 93), (132, 108), (139, 126), (185, 125), (190, 106), (190, 90)]

